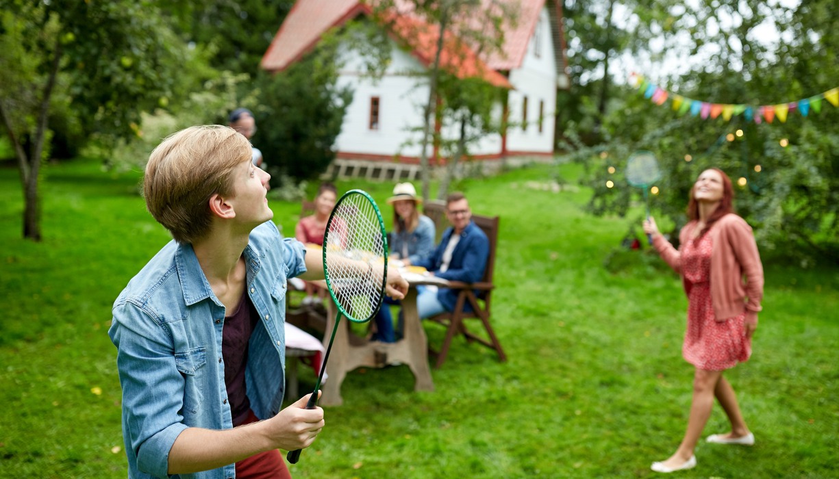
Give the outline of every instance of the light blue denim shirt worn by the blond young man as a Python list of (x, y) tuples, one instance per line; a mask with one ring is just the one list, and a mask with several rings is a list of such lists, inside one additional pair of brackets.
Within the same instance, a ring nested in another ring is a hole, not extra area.
[[(276, 415), (283, 402), (286, 279), (305, 272), (304, 254), (302, 243), (281, 237), (271, 221), (253, 229), (243, 253), (248, 296), (260, 318), (245, 369), (259, 419)], [(129, 477), (167, 477), (169, 450), (189, 427), (233, 427), (221, 358), (224, 317), (192, 246), (174, 241), (114, 303), (108, 335), (117, 346)], [(172, 477), (233, 476), (230, 464)]]

